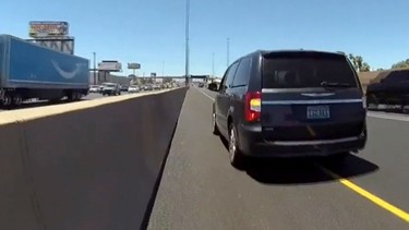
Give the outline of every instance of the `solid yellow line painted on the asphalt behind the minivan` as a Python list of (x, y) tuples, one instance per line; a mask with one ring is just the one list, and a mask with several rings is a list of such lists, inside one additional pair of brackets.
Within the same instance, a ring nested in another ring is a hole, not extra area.
[(409, 213), (387, 203), (386, 201), (384, 201), (384, 199), (377, 197), (376, 195), (368, 192), (366, 190), (358, 186), (357, 184), (352, 183), (351, 181), (339, 177), (338, 174), (332, 172), (330, 170), (328, 170), (328, 169), (326, 169), (322, 166), (318, 166), (318, 167), (322, 170), (324, 170), (326, 173), (328, 173), (330, 177), (333, 177), (334, 179), (337, 179), (341, 184), (344, 184), (348, 189), (352, 190), (353, 192), (360, 194), (361, 196), (368, 198), (369, 201), (373, 202), (377, 206), (384, 208), (385, 210), (390, 211), (395, 216), (399, 217), (400, 219), (402, 219), (404, 221), (409, 223)]

